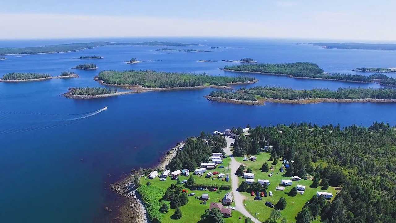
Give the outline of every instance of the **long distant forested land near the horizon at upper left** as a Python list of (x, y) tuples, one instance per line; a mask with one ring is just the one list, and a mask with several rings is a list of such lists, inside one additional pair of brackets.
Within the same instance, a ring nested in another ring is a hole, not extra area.
[(86, 43), (69, 43), (69, 44), (54, 44), (44, 45), (39, 47), (7, 47), (0, 48), (0, 55), (19, 55), (19, 54), (51, 54), (51, 53), (67, 53), (76, 52), (80, 50), (91, 49), (99, 46), (198, 46), (196, 43), (179, 43), (179, 42), (86, 42)]

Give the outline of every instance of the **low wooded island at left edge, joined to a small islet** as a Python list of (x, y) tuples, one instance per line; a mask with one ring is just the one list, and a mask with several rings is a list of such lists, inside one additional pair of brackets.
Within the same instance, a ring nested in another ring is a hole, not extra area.
[(0, 82), (23, 82), (23, 81), (44, 81), (56, 78), (72, 78), (79, 77), (74, 72), (64, 71), (59, 76), (52, 77), (44, 73), (8, 73), (3, 75)]

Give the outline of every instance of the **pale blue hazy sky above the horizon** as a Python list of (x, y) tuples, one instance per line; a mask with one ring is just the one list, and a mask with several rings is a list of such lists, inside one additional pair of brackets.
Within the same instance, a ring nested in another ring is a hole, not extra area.
[(1, 0), (0, 38), (252, 37), (396, 43), (396, 0)]

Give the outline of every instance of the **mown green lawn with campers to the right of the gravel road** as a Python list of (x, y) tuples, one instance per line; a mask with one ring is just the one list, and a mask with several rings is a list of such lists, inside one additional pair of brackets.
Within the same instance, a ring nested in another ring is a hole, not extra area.
[[(260, 221), (264, 221), (268, 219), (270, 212), (272, 211), (272, 208), (269, 208), (265, 205), (265, 202), (270, 201), (272, 204), (278, 203), (278, 200), (280, 197), (286, 198), (286, 208), (281, 211), (282, 216), (287, 218), (287, 221), (289, 222), (295, 222), (295, 216), (297, 216), (297, 213), (302, 210), (305, 202), (310, 200), (313, 195), (316, 195), (317, 191), (326, 191), (326, 192), (331, 192), (333, 196), (336, 195), (336, 190), (334, 187), (329, 187), (327, 190), (321, 190), (320, 186), (318, 188), (310, 188), (309, 186), (312, 184), (311, 180), (304, 180), (302, 179), (301, 181), (293, 181), (292, 186), (286, 186), (285, 190), (275, 190), (276, 186), (280, 186), (280, 181), (281, 179), (290, 179), (290, 177), (286, 177), (285, 173), (281, 173), (279, 171), (280, 167), (282, 166), (282, 161), (279, 160), (277, 165), (272, 165), (272, 161), (268, 161), (270, 158), (269, 153), (260, 153), (257, 155), (257, 161), (243, 161), (243, 157), (237, 157), (236, 160), (240, 163), (243, 163), (246, 165), (247, 168), (251, 168), (253, 170), (253, 173), (255, 174), (255, 181), (257, 179), (267, 179), (270, 181), (270, 185), (268, 185), (267, 193), (268, 191), (272, 191), (273, 196), (268, 196), (263, 197), (263, 200), (254, 200), (255, 196), (251, 196), (250, 193), (244, 192), (243, 194), (246, 196), (246, 200), (244, 201), (244, 204), (246, 205), (246, 210), (251, 212), (251, 213), (259, 213), (257, 215), (258, 219)], [(268, 173), (262, 172), (261, 167), (263, 166), (263, 163), (267, 162), (268, 166), (271, 167), (273, 166), (274, 169), (268, 171)], [(274, 174), (272, 177), (268, 177), (268, 174), (273, 172)], [(244, 181), (245, 179), (242, 179), (242, 177), (239, 178), (239, 183)], [(288, 196), (287, 192), (293, 188), (293, 186), (296, 186), (297, 184), (299, 185), (304, 185), (305, 186), (305, 193), (303, 195), (297, 194), (296, 196)]]

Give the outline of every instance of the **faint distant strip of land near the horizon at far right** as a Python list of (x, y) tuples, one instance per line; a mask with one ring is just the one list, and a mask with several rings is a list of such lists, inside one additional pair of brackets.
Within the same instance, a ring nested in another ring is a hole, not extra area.
[(392, 43), (334, 43), (314, 42), (308, 43), (314, 46), (325, 46), (329, 49), (353, 49), (353, 50), (396, 50), (396, 44)]

